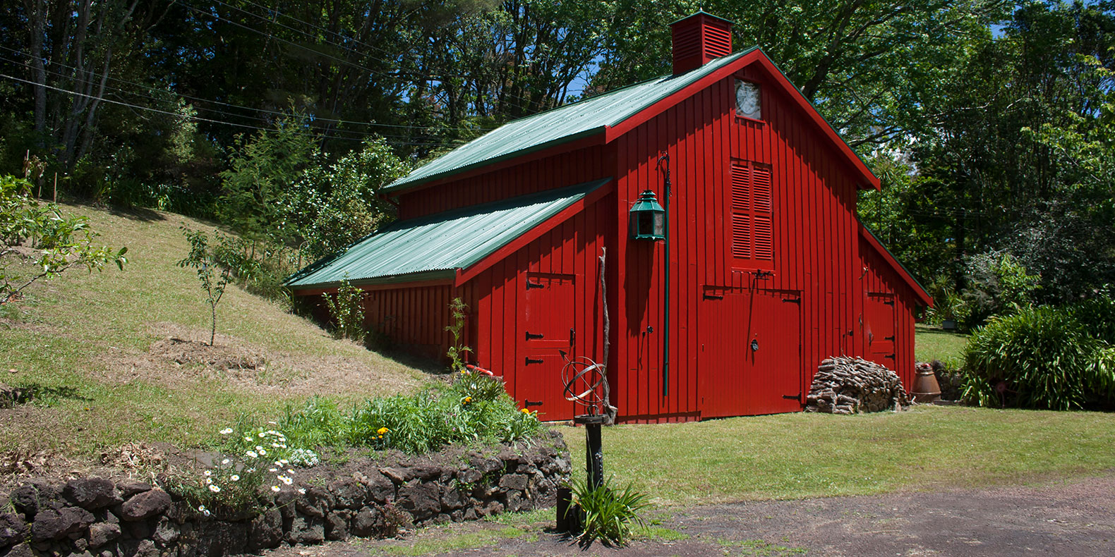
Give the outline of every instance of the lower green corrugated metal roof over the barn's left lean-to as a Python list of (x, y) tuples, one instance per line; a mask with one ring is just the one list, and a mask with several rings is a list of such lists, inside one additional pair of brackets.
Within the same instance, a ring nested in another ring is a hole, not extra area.
[(287, 280), (295, 289), (454, 276), (611, 178), (400, 221)]

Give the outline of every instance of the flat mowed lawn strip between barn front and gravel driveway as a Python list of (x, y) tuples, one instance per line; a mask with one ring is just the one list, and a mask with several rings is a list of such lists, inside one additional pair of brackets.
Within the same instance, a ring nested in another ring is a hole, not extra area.
[[(574, 473), (584, 430), (560, 428)], [(604, 470), (658, 505), (973, 488), (1115, 467), (1115, 414), (919, 407), (604, 428)]]

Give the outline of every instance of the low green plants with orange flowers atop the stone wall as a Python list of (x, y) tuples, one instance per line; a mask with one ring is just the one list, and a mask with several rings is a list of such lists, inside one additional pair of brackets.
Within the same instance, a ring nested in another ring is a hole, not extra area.
[(409, 453), (453, 443), (529, 441), (541, 430), (536, 413), (518, 410), (502, 380), (475, 375), (459, 375), (448, 387), (413, 395), (370, 399), (349, 411), (314, 398), (304, 405), (288, 407), (279, 423), (298, 447), (367, 447)]

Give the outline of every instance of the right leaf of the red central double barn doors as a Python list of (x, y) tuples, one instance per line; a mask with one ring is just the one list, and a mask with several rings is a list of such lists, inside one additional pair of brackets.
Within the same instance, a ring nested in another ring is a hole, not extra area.
[(802, 409), (802, 295), (755, 290), (746, 341), (747, 414)]

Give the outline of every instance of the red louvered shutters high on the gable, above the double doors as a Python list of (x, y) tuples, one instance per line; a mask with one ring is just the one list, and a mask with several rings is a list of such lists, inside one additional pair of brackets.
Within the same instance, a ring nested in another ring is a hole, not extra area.
[(760, 266), (774, 262), (774, 193), (770, 167), (731, 162), (731, 256)]

